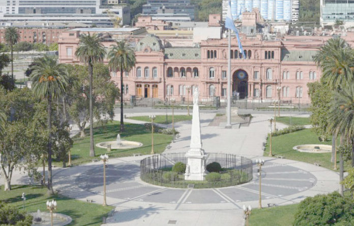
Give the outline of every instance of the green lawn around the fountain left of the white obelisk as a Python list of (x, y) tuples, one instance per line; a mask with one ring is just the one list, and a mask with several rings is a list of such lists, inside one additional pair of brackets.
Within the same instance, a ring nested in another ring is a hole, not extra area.
[[(103, 141), (114, 141), (119, 134), (120, 122), (112, 121), (105, 125), (98, 126), (94, 124), (94, 141), (95, 144)], [(72, 165), (78, 165), (89, 162), (93, 158), (98, 158), (100, 154), (107, 153), (106, 149), (95, 146), (96, 157), (89, 156), (90, 150), (90, 133), (89, 129), (85, 130), (86, 136), (80, 138), (79, 135), (73, 138), (74, 145), (71, 148)], [(150, 154), (151, 152), (151, 130), (146, 130), (144, 125), (125, 123), (125, 132), (121, 134), (122, 140), (137, 141), (143, 144), (141, 147), (131, 149), (119, 149), (109, 152), (110, 157), (131, 156), (134, 153)], [(154, 134), (154, 151), (161, 153), (166, 146), (172, 141), (172, 135)]]

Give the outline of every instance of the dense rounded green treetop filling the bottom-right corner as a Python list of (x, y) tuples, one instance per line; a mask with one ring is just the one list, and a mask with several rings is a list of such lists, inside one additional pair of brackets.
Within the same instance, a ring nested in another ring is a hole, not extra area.
[(338, 192), (308, 197), (301, 201), (293, 225), (353, 225), (354, 200)]

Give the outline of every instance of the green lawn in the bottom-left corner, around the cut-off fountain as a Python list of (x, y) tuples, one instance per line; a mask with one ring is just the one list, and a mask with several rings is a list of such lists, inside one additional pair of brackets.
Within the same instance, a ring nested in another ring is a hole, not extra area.
[(73, 221), (68, 225), (101, 225), (102, 217), (114, 208), (112, 206), (103, 207), (98, 204), (85, 203), (70, 199), (61, 195), (47, 196), (47, 188), (42, 186), (14, 185), (12, 190), (3, 191), (1, 186), (0, 200), (9, 205), (22, 209), (22, 192), (25, 193), (26, 201), (24, 208), (28, 212), (47, 212), (47, 200), (55, 199), (57, 209), (55, 212), (71, 216)]

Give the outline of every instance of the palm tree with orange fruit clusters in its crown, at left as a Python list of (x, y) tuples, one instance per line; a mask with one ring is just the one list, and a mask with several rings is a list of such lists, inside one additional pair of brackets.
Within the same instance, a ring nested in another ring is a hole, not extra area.
[(57, 63), (57, 57), (44, 56), (36, 60), (36, 64), (31, 68), (31, 81), (33, 91), (42, 99), (47, 99), (48, 112), (48, 192), (53, 193), (52, 186), (52, 143), (51, 143), (51, 118), (52, 101), (61, 98), (65, 93), (68, 76), (65, 64)]

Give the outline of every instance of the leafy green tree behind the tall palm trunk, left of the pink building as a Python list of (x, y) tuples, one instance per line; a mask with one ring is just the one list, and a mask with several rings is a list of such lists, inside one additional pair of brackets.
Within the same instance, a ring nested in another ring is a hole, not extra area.
[[(66, 92), (66, 103), (70, 119), (73, 120), (80, 130), (80, 136), (84, 137), (85, 125), (90, 120), (88, 112), (90, 106), (89, 81), (87, 67), (69, 65), (70, 89)], [(119, 88), (110, 80), (108, 66), (103, 63), (94, 64), (93, 68), (93, 111), (96, 120), (101, 120), (101, 115), (109, 115), (113, 119), (114, 103), (119, 98)]]

